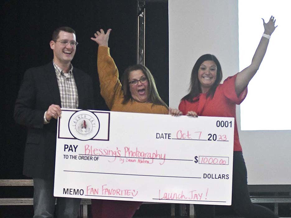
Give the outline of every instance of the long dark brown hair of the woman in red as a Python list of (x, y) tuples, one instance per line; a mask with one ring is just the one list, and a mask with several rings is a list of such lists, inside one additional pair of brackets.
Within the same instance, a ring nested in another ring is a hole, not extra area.
[(206, 97), (209, 97), (209, 96), (211, 96), (211, 98), (213, 97), (217, 86), (219, 85), (219, 83), (222, 80), (222, 69), (221, 69), (221, 65), (220, 65), (218, 59), (213, 54), (204, 54), (200, 58), (198, 58), (198, 60), (194, 64), (194, 67), (193, 67), (192, 73), (191, 73), (189, 93), (187, 95), (185, 95), (182, 98), (182, 100), (188, 100), (190, 102), (193, 102), (193, 98), (202, 92), (200, 82), (198, 79), (198, 70), (199, 70), (200, 65), (204, 61), (214, 61), (214, 63), (217, 66), (216, 80), (206, 94)]

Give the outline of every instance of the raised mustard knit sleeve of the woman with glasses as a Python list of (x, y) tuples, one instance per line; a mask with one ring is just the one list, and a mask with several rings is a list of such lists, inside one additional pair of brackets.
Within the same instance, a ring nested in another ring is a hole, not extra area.
[(118, 69), (113, 58), (110, 56), (108, 47), (98, 47), (97, 69), (101, 95), (104, 98), (108, 108), (111, 110), (114, 102), (124, 96), (121, 89), (121, 83), (118, 78)]

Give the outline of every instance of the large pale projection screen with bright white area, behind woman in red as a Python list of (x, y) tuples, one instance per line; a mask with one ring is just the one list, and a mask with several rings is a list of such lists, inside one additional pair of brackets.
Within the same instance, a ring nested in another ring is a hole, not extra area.
[[(169, 105), (188, 93), (195, 61), (214, 54), (223, 80), (247, 67), (271, 15), (278, 28), (259, 71), (237, 106), (250, 185), (291, 184), (289, 1), (169, 0)], [(288, 59), (287, 59), (288, 58)]]

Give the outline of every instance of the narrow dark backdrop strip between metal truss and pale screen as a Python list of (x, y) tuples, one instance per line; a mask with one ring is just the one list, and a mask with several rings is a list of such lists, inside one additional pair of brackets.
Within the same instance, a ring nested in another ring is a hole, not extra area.
[(168, 2), (147, 2), (145, 14), (145, 65), (153, 73), (162, 100), (169, 105)]

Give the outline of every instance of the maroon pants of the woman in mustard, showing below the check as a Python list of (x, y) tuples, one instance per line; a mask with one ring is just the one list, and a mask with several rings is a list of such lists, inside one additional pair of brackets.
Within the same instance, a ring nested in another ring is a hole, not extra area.
[(93, 218), (131, 218), (142, 202), (92, 199)]

